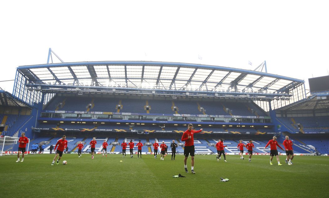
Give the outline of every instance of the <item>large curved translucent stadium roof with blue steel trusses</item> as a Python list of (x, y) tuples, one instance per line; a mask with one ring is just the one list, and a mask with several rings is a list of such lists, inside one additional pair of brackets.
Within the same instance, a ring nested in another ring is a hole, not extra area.
[(87, 86), (282, 95), (304, 83), (304, 80), (252, 70), (174, 62), (52, 63), (20, 66), (17, 71), (28, 78), (29, 85), (51, 85), (53, 90)]

